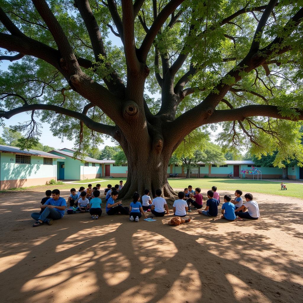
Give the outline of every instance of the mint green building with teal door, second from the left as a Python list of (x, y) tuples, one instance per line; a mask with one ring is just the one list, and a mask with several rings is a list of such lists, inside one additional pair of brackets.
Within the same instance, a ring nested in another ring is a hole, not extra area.
[(85, 157), (85, 162), (82, 162), (80, 158), (73, 158), (74, 152), (75, 150), (71, 148), (49, 151), (53, 155), (65, 158), (62, 161), (58, 161), (58, 180), (85, 180), (111, 176), (107, 162), (113, 163), (114, 161)]

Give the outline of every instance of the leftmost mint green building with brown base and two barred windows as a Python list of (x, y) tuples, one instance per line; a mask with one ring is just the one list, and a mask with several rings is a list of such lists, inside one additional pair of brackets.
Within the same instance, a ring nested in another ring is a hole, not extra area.
[(57, 180), (57, 161), (62, 159), (44, 151), (0, 145), (0, 190)]

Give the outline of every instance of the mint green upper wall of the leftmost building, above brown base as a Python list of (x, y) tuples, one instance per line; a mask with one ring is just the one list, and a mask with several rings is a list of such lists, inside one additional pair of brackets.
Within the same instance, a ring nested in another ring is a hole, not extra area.
[(3, 181), (56, 177), (57, 159), (53, 158), (53, 165), (43, 165), (43, 157), (31, 156), (31, 164), (16, 164), (15, 154), (0, 153), (0, 157), (0, 177)]

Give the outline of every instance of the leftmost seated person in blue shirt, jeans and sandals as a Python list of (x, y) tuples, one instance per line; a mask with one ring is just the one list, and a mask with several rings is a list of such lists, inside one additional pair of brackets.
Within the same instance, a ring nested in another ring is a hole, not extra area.
[(40, 205), (40, 208), (44, 209), (42, 214), (38, 212), (32, 213), (32, 218), (37, 221), (33, 224), (33, 227), (43, 225), (44, 223), (52, 225), (53, 220), (61, 219), (64, 216), (65, 207), (65, 199), (60, 197), (58, 189), (54, 189), (52, 191), (52, 198), (49, 198), (43, 205)]

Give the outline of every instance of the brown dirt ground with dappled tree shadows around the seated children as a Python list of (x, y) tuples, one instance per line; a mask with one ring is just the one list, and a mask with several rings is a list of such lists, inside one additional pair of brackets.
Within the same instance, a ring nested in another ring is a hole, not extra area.
[(2, 302), (303, 302), (302, 200), (254, 194), (256, 221), (85, 213), (33, 228), (42, 197), (0, 194)]

